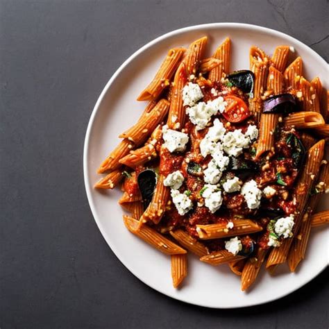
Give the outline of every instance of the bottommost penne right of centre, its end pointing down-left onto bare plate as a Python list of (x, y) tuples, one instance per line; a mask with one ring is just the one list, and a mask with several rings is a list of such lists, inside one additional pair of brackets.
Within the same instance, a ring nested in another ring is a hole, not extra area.
[(260, 272), (260, 267), (264, 262), (265, 256), (267, 255), (269, 249), (258, 248), (255, 257), (248, 258), (246, 265), (242, 271), (241, 276), (241, 290), (244, 291), (248, 289), (253, 282), (255, 282), (258, 273)]

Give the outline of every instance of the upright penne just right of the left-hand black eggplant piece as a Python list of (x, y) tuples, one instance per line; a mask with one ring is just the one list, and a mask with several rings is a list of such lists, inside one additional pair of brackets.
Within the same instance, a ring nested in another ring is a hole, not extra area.
[(152, 201), (140, 218), (141, 223), (146, 223), (146, 221), (153, 221), (153, 223), (157, 224), (165, 214), (170, 190), (167, 186), (163, 185), (164, 180), (165, 176), (160, 174), (155, 186)]

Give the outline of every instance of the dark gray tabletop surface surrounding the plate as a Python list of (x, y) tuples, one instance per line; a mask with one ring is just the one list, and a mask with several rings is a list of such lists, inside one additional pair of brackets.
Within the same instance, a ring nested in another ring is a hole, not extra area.
[(144, 285), (96, 228), (82, 163), (103, 86), (154, 37), (245, 22), (328, 60), (327, 15), (324, 0), (0, 0), (0, 328), (328, 328), (328, 272), (243, 310), (187, 305)]

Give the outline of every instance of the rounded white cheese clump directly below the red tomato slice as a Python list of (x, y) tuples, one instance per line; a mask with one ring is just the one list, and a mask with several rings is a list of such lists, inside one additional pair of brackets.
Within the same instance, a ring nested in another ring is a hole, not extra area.
[(240, 155), (243, 149), (247, 149), (251, 144), (251, 140), (248, 136), (242, 133), (241, 129), (235, 129), (226, 133), (223, 137), (223, 150), (232, 156)]

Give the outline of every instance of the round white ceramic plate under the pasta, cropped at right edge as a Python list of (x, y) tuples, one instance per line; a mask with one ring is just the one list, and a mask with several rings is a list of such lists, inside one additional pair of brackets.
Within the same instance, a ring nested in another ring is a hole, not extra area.
[[(117, 258), (146, 285), (196, 305), (232, 308), (257, 305), (290, 294), (317, 276), (328, 264), (326, 228), (312, 230), (306, 259), (296, 273), (280, 267), (276, 276), (262, 270), (255, 287), (241, 292), (240, 278), (226, 266), (212, 267), (189, 255), (188, 276), (182, 289), (171, 285), (170, 259), (128, 232), (122, 221), (123, 210), (117, 204), (121, 191), (100, 192), (93, 189), (99, 180), (96, 169), (119, 142), (117, 136), (135, 123), (144, 109), (144, 102), (135, 99), (145, 87), (171, 47), (185, 46), (208, 35), (208, 54), (229, 36), (233, 42), (231, 69), (248, 69), (248, 51), (255, 44), (267, 53), (279, 44), (288, 44), (302, 56), (304, 75), (319, 76), (328, 87), (327, 63), (302, 42), (278, 31), (248, 24), (207, 24), (182, 28), (149, 42), (136, 51), (110, 78), (94, 107), (85, 136), (83, 158), (85, 188), (99, 230)], [(323, 201), (323, 200), (322, 200)], [(326, 199), (328, 208), (328, 199)], [(324, 201), (321, 208), (325, 208)]]

